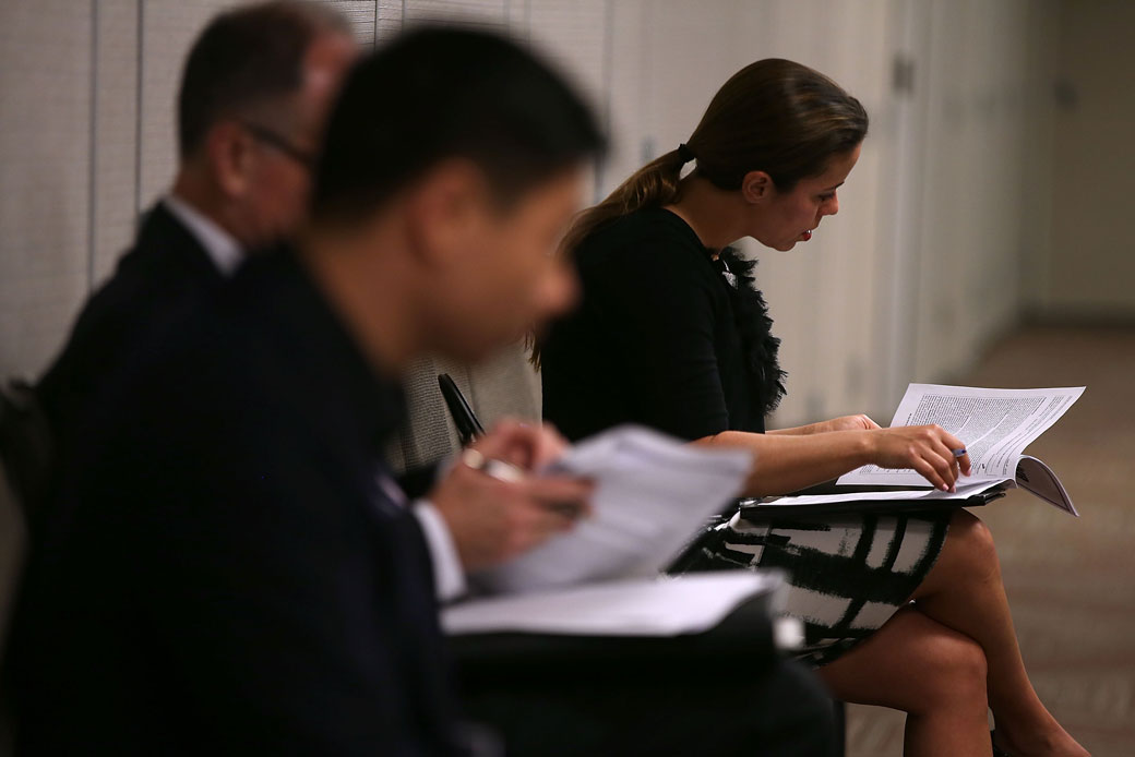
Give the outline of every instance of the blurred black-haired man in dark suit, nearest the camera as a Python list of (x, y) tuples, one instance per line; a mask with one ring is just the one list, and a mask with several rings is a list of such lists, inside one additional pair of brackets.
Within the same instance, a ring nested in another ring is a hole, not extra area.
[[(422, 30), (358, 66), (326, 144), (296, 243), (252, 256), (216, 306), (148, 340), (92, 413), (15, 629), (26, 754), (468, 749), (428, 535), (381, 444), (412, 358), (476, 360), (572, 304), (552, 252), (602, 138), (527, 52)], [(516, 460), (527, 444), (519, 462), (535, 465), (526, 434), (481, 451)], [(431, 498), (477, 514), (466, 494), (485, 486), (524, 503), (587, 495), (459, 464)], [(470, 518), (455, 533), (488, 536), (457, 539), (465, 567), (564, 527), (550, 508)], [(704, 698), (605, 685), (595, 701), (619, 706), (586, 716), (620, 732), (624, 754), (826, 748), (826, 700), (797, 668), (708, 681)], [(518, 734), (511, 754), (611, 754), (613, 737), (573, 732), (574, 717), (533, 735), (541, 709), (519, 701), (494, 723)]]

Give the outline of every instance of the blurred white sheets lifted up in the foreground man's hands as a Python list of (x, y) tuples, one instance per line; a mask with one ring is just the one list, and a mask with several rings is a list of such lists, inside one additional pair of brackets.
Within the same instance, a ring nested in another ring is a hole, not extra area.
[(693, 447), (630, 426), (585, 439), (553, 470), (596, 482), (592, 516), (473, 583), (496, 594), (654, 575), (738, 496), (751, 465), (743, 449)]

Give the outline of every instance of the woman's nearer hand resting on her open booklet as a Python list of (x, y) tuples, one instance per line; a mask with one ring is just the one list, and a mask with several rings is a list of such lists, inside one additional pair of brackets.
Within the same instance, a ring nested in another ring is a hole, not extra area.
[(880, 468), (913, 468), (943, 491), (953, 491), (958, 474), (969, 476), (969, 455), (956, 436), (941, 426), (898, 426), (867, 432), (869, 462)]

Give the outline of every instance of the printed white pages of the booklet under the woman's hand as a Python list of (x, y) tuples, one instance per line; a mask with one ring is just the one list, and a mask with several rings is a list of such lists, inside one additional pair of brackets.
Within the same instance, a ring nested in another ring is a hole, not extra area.
[[(1056, 423), (1084, 393), (1084, 387), (1054, 389), (982, 389), (911, 384), (891, 426), (938, 423), (958, 437), (969, 453), (969, 481), (1016, 477), (1022, 453)], [(865, 465), (841, 476), (838, 483), (926, 486), (913, 470)]]

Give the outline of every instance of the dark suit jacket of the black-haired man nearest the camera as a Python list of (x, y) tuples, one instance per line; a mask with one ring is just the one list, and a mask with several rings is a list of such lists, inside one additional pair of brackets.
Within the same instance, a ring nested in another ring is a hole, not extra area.
[(20, 746), (453, 751), (432, 571), (388, 483), (401, 420), (288, 253), (108, 386), (15, 629)]

